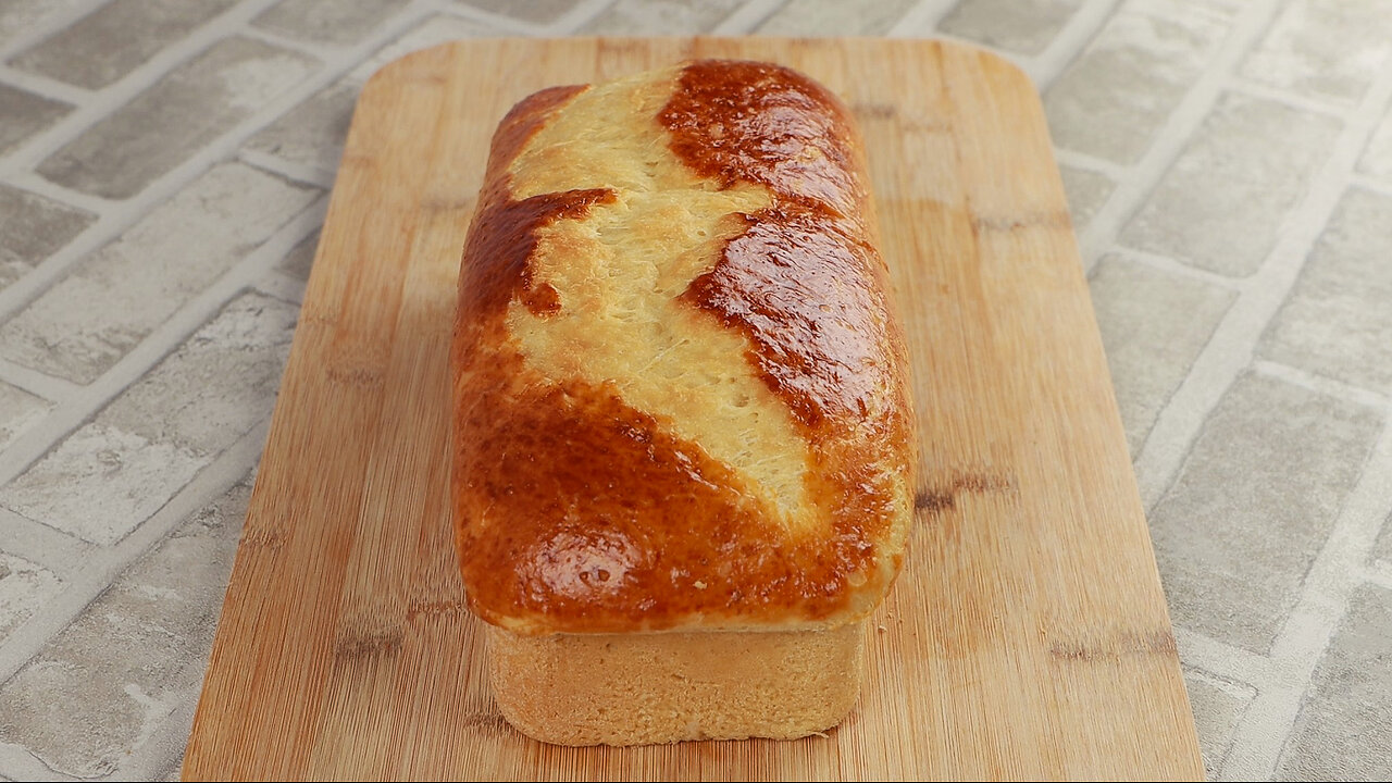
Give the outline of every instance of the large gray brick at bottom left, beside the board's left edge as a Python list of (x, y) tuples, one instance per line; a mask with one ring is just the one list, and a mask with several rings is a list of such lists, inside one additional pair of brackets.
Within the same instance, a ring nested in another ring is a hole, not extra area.
[(0, 736), (63, 775), (117, 772), (202, 680), (249, 495), (191, 515), (0, 687)]

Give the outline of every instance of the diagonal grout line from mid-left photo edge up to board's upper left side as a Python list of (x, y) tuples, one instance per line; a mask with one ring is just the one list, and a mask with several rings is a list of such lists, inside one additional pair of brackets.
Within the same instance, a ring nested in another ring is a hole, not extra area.
[(213, 284), (187, 301), (116, 365), (102, 373), (97, 380), (68, 396), (42, 422), (11, 442), (0, 453), (0, 485), (8, 483), (43, 457), (57, 442), (96, 415), (99, 410), (178, 348), (189, 334), (212, 319), (238, 293), (255, 284), (258, 277), (323, 224), (327, 203), (327, 195), (316, 199), (259, 248), (223, 273)]

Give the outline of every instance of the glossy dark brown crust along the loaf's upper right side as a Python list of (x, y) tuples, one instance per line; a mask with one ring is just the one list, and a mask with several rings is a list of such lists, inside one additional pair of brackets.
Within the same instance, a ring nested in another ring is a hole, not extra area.
[(658, 121), (695, 171), (774, 196), (683, 298), (749, 337), (750, 362), (803, 425), (863, 421), (895, 387), (903, 346), (863, 217), (849, 111), (789, 68), (700, 60)]

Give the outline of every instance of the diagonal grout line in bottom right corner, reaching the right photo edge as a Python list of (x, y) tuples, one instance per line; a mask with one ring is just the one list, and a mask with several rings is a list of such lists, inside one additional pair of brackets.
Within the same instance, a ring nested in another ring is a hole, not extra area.
[(1363, 584), (1363, 568), (1382, 521), (1392, 511), (1392, 424), (1382, 433), (1353, 492), (1345, 499), (1329, 538), (1306, 575), (1296, 607), (1272, 645), (1281, 669), (1296, 674), (1289, 688), (1260, 688), (1233, 731), (1219, 780), (1268, 780), (1285, 745), (1320, 659), (1338, 631), (1349, 596)]

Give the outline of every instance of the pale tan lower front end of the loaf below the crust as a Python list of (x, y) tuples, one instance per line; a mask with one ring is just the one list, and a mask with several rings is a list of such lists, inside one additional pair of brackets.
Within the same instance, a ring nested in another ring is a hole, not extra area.
[(487, 626), (503, 716), (558, 745), (793, 740), (855, 706), (866, 623), (798, 631), (558, 634)]

